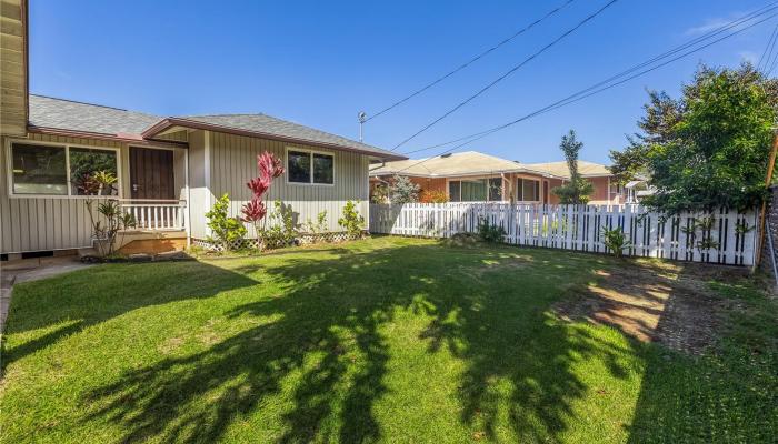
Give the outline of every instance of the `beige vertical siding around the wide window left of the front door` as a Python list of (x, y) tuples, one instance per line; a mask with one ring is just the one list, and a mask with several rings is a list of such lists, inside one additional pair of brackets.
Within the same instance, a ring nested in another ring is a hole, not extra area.
[[(91, 223), (84, 199), (11, 196), (9, 186), (9, 138), (2, 139), (0, 155), (0, 252), (67, 250), (91, 244)], [(18, 139), (14, 139), (18, 140)], [(51, 142), (119, 149), (122, 198), (130, 196), (129, 145), (116, 141), (29, 134), (27, 142)], [(183, 150), (178, 150), (183, 151)], [(178, 154), (181, 157), (181, 154)], [(183, 176), (177, 165), (174, 176)], [(181, 180), (182, 183), (182, 180)]]

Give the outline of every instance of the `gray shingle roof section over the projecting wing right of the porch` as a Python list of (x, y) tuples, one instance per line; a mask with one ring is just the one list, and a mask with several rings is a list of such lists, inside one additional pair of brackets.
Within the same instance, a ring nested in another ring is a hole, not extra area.
[(299, 123), (281, 120), (267, 114), (213, 114), (213, 115), (188, 115), (182, 119), (216, 124), (220, 127), (235, 128), (237, 130), (257, 131), (280, 138), (308, 140), (311, 142), (351, 148), (365, 152), (373, 152), (379, 155), (397, 157), (397, 153), (382, 150), (367, 143), (357, 142), (340, 135), (319, 131)]

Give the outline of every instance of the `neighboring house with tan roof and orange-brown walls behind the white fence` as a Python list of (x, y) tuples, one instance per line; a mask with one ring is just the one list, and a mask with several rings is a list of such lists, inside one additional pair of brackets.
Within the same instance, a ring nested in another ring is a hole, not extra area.
[[(594, 184), (591, 204), (625, 203), (622, 186), (611, 181), (606, 165), (578, 161), (585, 179)], [(428, 159), (373, 164), (370, 186), (390, 183), (395, 174), (408, 176), (425, 192), (446, 193), (451, 202), (559, 203), (551, 192), (570, 180), (567, 162), (520, 163), (477, 151)]]

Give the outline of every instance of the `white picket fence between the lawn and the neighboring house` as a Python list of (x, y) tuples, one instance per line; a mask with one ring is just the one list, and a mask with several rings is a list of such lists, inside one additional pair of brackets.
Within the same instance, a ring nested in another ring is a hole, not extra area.
[(505, 242), (608, 253), (604, 228), (621, 228), (626, 255), (752, 265), (756, 212), (720, 210), (670, 218), (640, 205), (407, 203), (370, 205), (370, 232), (450, 238), (476, 232), (479, 220), (502, 226)]

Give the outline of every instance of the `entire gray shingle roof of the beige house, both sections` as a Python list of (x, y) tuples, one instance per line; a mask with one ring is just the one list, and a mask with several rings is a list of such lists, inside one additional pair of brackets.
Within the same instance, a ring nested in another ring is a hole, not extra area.
[[(266, 114), (191, 115), (179, 119), (232, 128), (236, 130), (259, 132), (279, 138), (309, 141), (313, 144), (323, 143), (336, 145), (373, 153), (378, 157), (398, 157), (397, 153), (380, 148)], [(29, 123), (38, 128), (83, 131), (110, 135), (120, 133), (139, 135), (162, 120), (162, 117), (143, 112), (30, 94)]]

